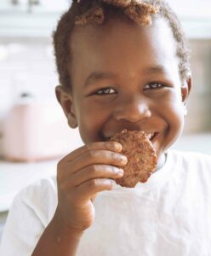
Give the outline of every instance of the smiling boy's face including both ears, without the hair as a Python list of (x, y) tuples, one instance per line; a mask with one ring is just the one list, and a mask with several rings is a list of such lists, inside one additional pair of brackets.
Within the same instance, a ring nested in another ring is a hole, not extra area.
[(123, 129), (145, 131), (160, 157), (183, 129), (191, 86), (180, 82), (167, 22), (78, 26), (71, 52), (72, 93), (57, 89), (57, 96), (83, 142), (106, 141)]

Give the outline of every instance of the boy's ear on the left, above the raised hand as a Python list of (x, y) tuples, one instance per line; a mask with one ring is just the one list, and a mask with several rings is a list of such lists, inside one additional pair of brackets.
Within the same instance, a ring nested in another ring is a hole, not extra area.
[(64, 86), (58, 85), (55, 88), (55, 95), (57, 101), (60, 103), (61, 108), (66, 114), (68, 125), (71, 128), (77, 128), (77, 118), (71, 92), (67, 90)]

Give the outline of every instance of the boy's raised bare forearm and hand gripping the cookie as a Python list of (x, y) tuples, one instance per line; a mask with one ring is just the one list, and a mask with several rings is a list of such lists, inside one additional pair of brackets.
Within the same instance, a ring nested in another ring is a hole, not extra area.
[[(117, 143), (92, 143), (60, 160), (57, 168), (58, 206), (32, 256), (71, 256), (94, 222), (94, 197), (112, 189), (112, 178), (123, 177), (118, 166), (127, 159)], [(122, 157), (121, 157), (122, 156)]]

